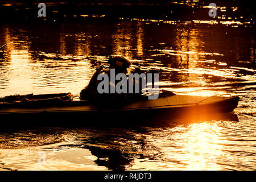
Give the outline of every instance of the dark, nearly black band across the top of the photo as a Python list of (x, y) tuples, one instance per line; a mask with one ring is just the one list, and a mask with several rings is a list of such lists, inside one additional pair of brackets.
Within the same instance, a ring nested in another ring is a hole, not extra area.
[[(62, 1), (46, 3), (46, 18), (38, 17), (38, 3), (20, 3), (23, 1), (0, 1), (0, 17), (3, 22), (65, 22), (104, 18), (118, 20), (119, 18), (163, 19), (163, 20), (219, 20), (208, 15), (208, 2), (185, 1)], [(146, 3), (147, 2), (147, 3)], [(230, 16), (231, 20), (246, 22), (253, 19), (253, 8), (243, 1), (216, 1), (220, 7), (226, 6), (226, 11), (217, 11), (217, 16)], [(238, 7), (233, 11), (232, 7)], [(242, 18), (241, 18), (242, 16)], [(236, 19), (235, 19), (236, 18)]]

